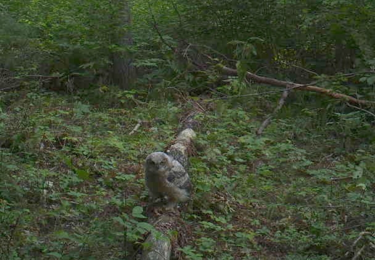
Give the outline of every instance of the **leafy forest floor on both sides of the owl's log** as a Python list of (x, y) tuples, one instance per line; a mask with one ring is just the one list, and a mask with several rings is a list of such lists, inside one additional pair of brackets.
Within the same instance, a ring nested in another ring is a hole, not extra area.
[[(135, 259), (152, 230), (143, 160), (173, 140), (188, 104), (48, 91), (0, 101), (1, 259)], [(260, 101), (211, 101), (195, 118), (194, 198), (177, 252), (322, 260), (363, 247), (357, 259), (375, 259), (373, 126), (360, 112), (296, 103), (257, 137), (272, 111)]]

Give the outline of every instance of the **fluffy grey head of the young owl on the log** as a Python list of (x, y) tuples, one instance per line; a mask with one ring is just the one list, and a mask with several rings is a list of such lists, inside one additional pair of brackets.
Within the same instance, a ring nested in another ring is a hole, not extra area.
[(172, 167), (172, 159), (166, 153), (161, 151), (150, 153), (146, 157), (146, 161), (144, 163), (144, 168), (146, 172), (149, 173), (154, 172), (158, 174), (168, 174), (168, 171)]

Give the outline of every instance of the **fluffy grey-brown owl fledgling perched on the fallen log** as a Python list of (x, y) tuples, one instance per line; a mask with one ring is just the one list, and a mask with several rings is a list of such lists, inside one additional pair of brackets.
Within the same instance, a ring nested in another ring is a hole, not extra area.
[(164, 152), (152, 152), (144, 163), (145, 181), (151, 199), (164, 198), (167, 207), (189, 199), (192, 185), (184, 167)]

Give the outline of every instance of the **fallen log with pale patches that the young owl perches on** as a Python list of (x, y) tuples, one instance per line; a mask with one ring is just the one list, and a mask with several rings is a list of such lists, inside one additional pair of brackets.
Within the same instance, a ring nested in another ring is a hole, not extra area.
[[(194, 120), (196, 113), (190, 113), (183, 120), (183, 127), (177, 135), (174, 142), (168, 147), (167, 153), (175, 160), (179, 161), (186, 169), (187, 157), (192, 149), (192, 140), (195, 137), (193, 128), (196, 128), (198, 122)], [(170, 230), (181, 230), (182, 220), (179, 213), (164, 213), (159, 217), (149, 217), (151, 224), (156, 230), (161, 232), (160, 236), (150, 233), (145, 242), (149, 245), (142, 252), (141, 260), (169, 260), (172, 250), (172, 239), (167, 235)]]

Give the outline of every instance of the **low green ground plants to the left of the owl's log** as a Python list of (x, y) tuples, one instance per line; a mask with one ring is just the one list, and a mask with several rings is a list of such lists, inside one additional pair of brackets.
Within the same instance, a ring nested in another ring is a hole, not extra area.
[[(178, 107), (97, 110), (51, 92), (2, 97), (9, 112), (1, 113), (1, 256), (95, 259), (114, 252), (120, 259), (155, 232), (138, 204), (139, 165), (173, 137)], [(173, 123), (128, 135), (135, 118), (156, 115)]]

